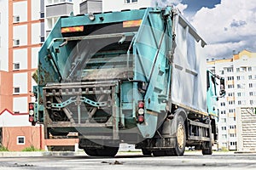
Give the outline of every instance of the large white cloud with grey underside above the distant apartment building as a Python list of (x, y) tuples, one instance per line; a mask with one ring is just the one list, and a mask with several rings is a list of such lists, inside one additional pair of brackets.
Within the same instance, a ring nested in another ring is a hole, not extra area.
[(229, 57), (242, 49), (256, 52), (255, 0), (222, 0), (215, 8), (201, 8), (192, 25), (209, 44), (207, 56)]

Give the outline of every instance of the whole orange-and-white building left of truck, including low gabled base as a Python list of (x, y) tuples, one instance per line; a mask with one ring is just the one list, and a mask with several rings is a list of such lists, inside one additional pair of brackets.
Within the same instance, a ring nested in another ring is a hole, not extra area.
[(44, 0), (0, 1), (0, 6), (0, 144), (22, 150), (34, 144), (28, 137), (39, 129), (28, 122), (27, 105), (34, 100), (32, 74), (44, 42)]

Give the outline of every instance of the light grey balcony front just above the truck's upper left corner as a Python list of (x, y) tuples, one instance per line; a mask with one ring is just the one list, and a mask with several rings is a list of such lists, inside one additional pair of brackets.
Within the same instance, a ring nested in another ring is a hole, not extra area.
[(73, 12), (73, 3), (56, 3), (46, 6), (46, 18), (70, 15), (71, 12)]

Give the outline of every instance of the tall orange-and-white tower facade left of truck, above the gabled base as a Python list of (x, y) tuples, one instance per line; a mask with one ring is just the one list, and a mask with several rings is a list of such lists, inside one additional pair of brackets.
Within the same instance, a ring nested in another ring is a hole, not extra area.
[(0, 111), (26, 113), (44, 42), (44, 0), (0, 1), (0, 6)]

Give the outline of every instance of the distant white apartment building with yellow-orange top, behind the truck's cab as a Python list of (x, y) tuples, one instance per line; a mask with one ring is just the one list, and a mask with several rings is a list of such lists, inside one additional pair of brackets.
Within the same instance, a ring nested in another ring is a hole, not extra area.
[(209, 61), (208, 68), (225, 78), (226, 96), (218, 100), (218, 148), (237, 150), (237, 110), (256, 106), (256, 53), (243, 50), (232, 59)]

